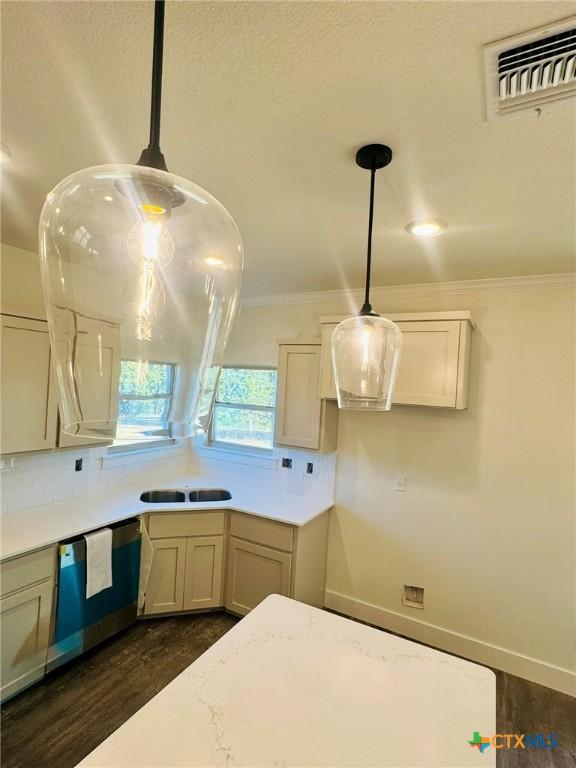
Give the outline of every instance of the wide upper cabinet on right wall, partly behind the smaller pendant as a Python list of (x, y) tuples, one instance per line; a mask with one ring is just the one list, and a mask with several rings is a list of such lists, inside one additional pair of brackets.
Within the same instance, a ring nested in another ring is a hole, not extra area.
[[(402, 331), (403, 346), (394, 387), (395, 405), (464, 409), (472, 323), (469, 312), (386, 314)], [(321, 318), (320, 394), (336, 398), (330, 340), (343, 318)]]

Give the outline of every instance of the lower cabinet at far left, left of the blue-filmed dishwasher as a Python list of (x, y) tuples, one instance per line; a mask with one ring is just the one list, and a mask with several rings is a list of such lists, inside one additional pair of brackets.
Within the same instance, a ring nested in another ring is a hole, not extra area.
[(55, 550), (49, 548), (2, 564), (2, 700), (44, 677), (55, 562)]

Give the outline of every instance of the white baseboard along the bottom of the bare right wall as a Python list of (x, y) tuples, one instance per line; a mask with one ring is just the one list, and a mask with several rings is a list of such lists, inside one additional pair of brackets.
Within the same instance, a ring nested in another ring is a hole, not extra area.
[(326, 590), (324, 605), (338, 613), (389, 629), (442, 651), (501, 669), (570, 696), (576, 695), (576, 673), (569, 669), (556, 667), (539, 659), (523, 656), (506, 648), (491, 645), (332, 590)]

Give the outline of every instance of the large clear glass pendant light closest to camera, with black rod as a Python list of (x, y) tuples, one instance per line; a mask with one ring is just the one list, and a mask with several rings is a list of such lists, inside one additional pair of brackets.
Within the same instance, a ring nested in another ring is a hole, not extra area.
[[(160, 150), (164, 2), (154, 6), (150, 141), (136, 165), (72, 174), (40, 217), (42, 281), (62, 427), (113, 438), (120, 360), (175, 365), (174, 435), (206, 426), (234, 319), (244, 254), (206, 190), (169, 173)], [(164, 407), (148, 386), (150, 413)]]

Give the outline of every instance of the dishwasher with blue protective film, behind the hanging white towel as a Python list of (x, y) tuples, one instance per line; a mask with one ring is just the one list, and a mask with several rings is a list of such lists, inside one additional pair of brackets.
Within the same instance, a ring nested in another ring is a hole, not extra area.
[(136, 621), (140, 573), (140, 521), (112, 528), (112, 586), (86, 598), (86, 541), (76, 536), (58, 547), (58, 584), (51, 671)]

